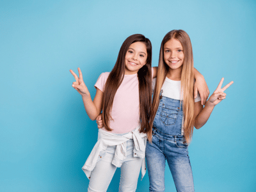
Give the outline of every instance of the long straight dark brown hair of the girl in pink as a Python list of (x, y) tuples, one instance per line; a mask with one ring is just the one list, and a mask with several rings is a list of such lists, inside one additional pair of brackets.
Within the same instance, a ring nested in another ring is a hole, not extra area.
[[(135, 42), (143, 42), (147, 47), (147, 63), (138, 71), (139, 93), (140, 93), (140, 132), (148, 132), (150, 130), (149, 118), (151, 107), (152, 94), (152, 76), (151, 76), (151, 61), (152, 61), (152, 45), (148, 38), (144, 35), (135, 34), (127, 37), (122, 44), (114, 68), (111, 70), (105, 84), (105, 91), (102, 104), (102, 122), (107, 131), (112, 129), (109, 127), (111, 119), (110, 111), (113, 106), (113, 100), (116, 90), (122, 83), (125, 74), (125, 54), (130, 45)], [(135, 127), (134, 127), (135, 128)]]

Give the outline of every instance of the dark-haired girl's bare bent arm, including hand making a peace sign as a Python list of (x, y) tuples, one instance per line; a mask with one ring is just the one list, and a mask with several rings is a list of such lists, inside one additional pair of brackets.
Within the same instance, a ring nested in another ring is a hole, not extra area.
[(72, 70), (70, 70), (70, 72), (76, 79), (76, 82), (73, 82), (72, 86), (82, 96), (84, 102), (84, 109), (87, 115), (91, 120), (95, 120), (102, 109), (103, 92), (97, 88), (95, 97), (92, 100), (90, 92), (84, 84), (83, 75), (80, 68), (78, 68), (79, 77)]

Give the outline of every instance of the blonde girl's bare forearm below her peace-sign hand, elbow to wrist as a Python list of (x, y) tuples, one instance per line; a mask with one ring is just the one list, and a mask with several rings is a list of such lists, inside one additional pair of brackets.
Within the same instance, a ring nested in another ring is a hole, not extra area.
[(195, 118), (195, 127), (196, 129), (200, 129), (201, 127), (206, 124), (207, 120), (209, 119), (214, 106), (206, 102), (204, 109), (200, 111), (200, 113)]

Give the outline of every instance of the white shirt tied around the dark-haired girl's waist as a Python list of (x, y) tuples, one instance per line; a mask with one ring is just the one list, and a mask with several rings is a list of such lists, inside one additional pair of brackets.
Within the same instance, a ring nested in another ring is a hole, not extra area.
[(139, 129), (140, 125), (133, 131), (127, 132), (127, 134), (123, 134), (122, 136), (99, 129), (98, 141), (82, 168), (86, 177), (90, 179), (92, 170), (95, 168), (98, 159), (104, 156), (108, 146), (116, 146), (112, 164), (116, 167), (122, 166), (122, 161), (126, 158), (126, 141), (132, 139), (134, 141), (133, 156), (143, 159), (141, 163), (141, 179), (143, 179), (146, 173), (145, 149), (147, 134), (140, 133)]

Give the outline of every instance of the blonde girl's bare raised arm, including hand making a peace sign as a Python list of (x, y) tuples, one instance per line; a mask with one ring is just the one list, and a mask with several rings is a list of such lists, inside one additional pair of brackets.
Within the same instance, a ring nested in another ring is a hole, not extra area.
[(221, 100), (226, 98), (226, 93), (224, 91), (234, 82), (231, 81), (226, 86), (221, 88), (222, 83), (224, 81), (224, 78), (221, 79), (218, 87), (216, 90), (212, 93), (211, 97), (207, 100), (205, 107), (203, 108), (202, 104), (200, 102), (195, 103), (195, 127), (196, 129), (200, 129), (209, 119), (212, 110), (214, 107), (221, 102)]

